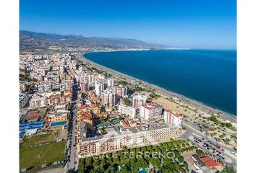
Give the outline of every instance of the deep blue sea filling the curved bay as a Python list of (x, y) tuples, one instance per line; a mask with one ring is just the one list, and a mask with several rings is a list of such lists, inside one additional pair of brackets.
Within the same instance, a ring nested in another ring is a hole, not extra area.
[(85, 57), (236, 115), (236, 50), (117, 51)]

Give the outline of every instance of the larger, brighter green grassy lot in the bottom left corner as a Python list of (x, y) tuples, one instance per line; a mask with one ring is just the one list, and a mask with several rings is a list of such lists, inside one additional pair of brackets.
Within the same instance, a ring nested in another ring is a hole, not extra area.
[(36, 169), (42, 164), (64, 160), (66, 141), (35, 147), (20, 148), (20, 169)]

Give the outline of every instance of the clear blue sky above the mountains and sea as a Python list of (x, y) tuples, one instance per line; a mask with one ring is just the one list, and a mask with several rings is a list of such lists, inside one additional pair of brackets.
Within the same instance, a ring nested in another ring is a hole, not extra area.
[(20, 30), (236, 49), (236, 1), (20, 0)]

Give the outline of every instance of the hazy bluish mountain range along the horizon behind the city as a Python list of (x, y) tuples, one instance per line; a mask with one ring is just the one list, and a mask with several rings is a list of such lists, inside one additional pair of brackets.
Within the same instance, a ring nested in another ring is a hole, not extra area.
[(82, 48), (168, 48), (166, 45), (145, 43), (136, 39), (119, 37), (83, 37), (82, 35), (57, 35), (20, 30), (20, 50), (47, 49), (49, 46)]

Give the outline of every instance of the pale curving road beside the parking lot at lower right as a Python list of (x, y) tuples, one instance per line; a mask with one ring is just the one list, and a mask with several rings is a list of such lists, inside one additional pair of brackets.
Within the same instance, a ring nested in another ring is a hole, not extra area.
[[(202, 134), (199, 130), (196, 130), (195, 128), (192, 128), (191, 126), (187, 125), (186, 123), (183, 123), (184, 127), (187, 129), (186, 133), (183, 133), (181, 138), (184, 139), (189, 139), (191, 141), (191, 137), (193, 136), (199, 136), (200, 138), (205, 138), (205, 135)], [(209, 141), (212, 141), (213, 143), (216, 143), (216, 141), (208, 138)], [(231, 164), (229, 164), (229, 167), (233, 167), (234, 169), (236, 169), (236, 157), (235, 156), (231, 156), (231, 151), (233, 151), (233, 148), (229, 147), (229, 146), (225, 146), (222, 143), (218, 143), (219, 146), (221, 146), (221, 148), (224, 149), (225, 154), (227, 156), (229, 156), (229, 159), (231, 159)], [(201, 147), (200, 147), (201, 148)], [(206, 151), (208, 153), (208, 150), (206, 150), (205, 148), (202, 148), (204, 151)]]

